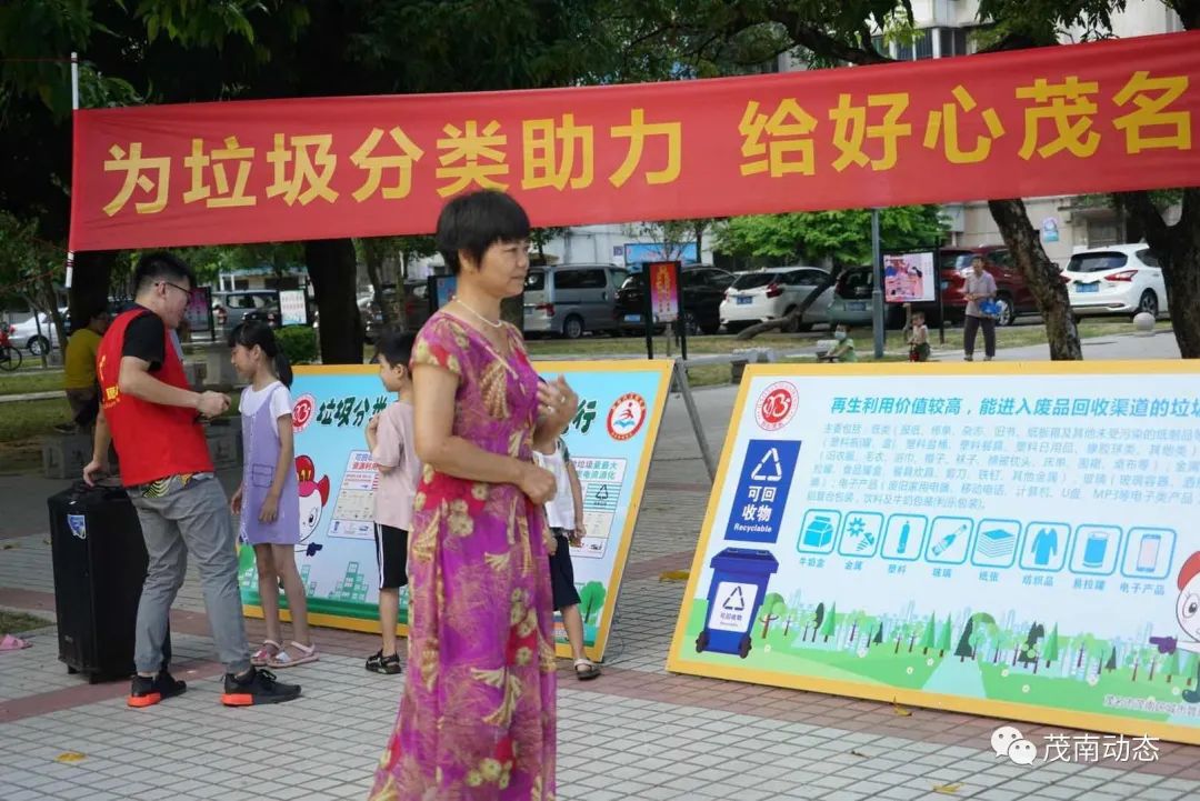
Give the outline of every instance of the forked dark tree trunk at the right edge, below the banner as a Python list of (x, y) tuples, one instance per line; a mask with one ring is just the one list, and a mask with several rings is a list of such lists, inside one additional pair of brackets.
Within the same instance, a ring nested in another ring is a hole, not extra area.
[(1146, 242), (1163, 265), (1180, 355), (1200, 359), (1200, 188), (1183, 189), (1183, 210), (1174, 225), (1163, 221), (1146, 192), (1128, 192), (1116, 200), (1141, 223)]

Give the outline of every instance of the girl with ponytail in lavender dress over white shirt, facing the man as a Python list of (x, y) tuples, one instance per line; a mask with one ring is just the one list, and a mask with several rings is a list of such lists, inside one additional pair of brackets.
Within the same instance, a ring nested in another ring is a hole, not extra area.
[[(256, 667), (289, 668), (317, 661), (308, 633), (308, 600), (296, 570), (300, 494), (292, 433), (292, 366), (270, 326), (242, 323), (229, 333), (230, 360), (250, 381), (241, 391), (242, 480), (230, 506), (241, 516), (241, 537), (254, 548), (258, 595), (266, 639), (251, 656)], [(288, 648), (280, 625), (280, 580), (292, 612)]]

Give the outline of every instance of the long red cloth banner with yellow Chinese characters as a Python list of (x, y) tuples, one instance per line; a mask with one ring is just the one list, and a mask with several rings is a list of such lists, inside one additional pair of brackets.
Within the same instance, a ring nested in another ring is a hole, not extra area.
[(76, 114), (77, 251), (1200, 185), (1200, 32), (913, 64)]

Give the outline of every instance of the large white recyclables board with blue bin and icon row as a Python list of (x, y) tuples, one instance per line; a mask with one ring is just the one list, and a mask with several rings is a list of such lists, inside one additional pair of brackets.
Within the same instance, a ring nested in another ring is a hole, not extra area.
[(923, 367), (748, 368), (667, 668), (1200, 743), (1200, 366)]

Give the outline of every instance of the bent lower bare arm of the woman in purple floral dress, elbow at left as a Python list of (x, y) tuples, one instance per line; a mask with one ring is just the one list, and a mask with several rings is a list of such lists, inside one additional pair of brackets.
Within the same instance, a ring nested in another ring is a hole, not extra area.
[(535, 504), (554, 495), (554, 476), (530, 462), (485, 451), (454, 432), (458, 377), (432, 365), (413, 366), (416, 456), (438, 472), (468, 481), (516, 484)]

